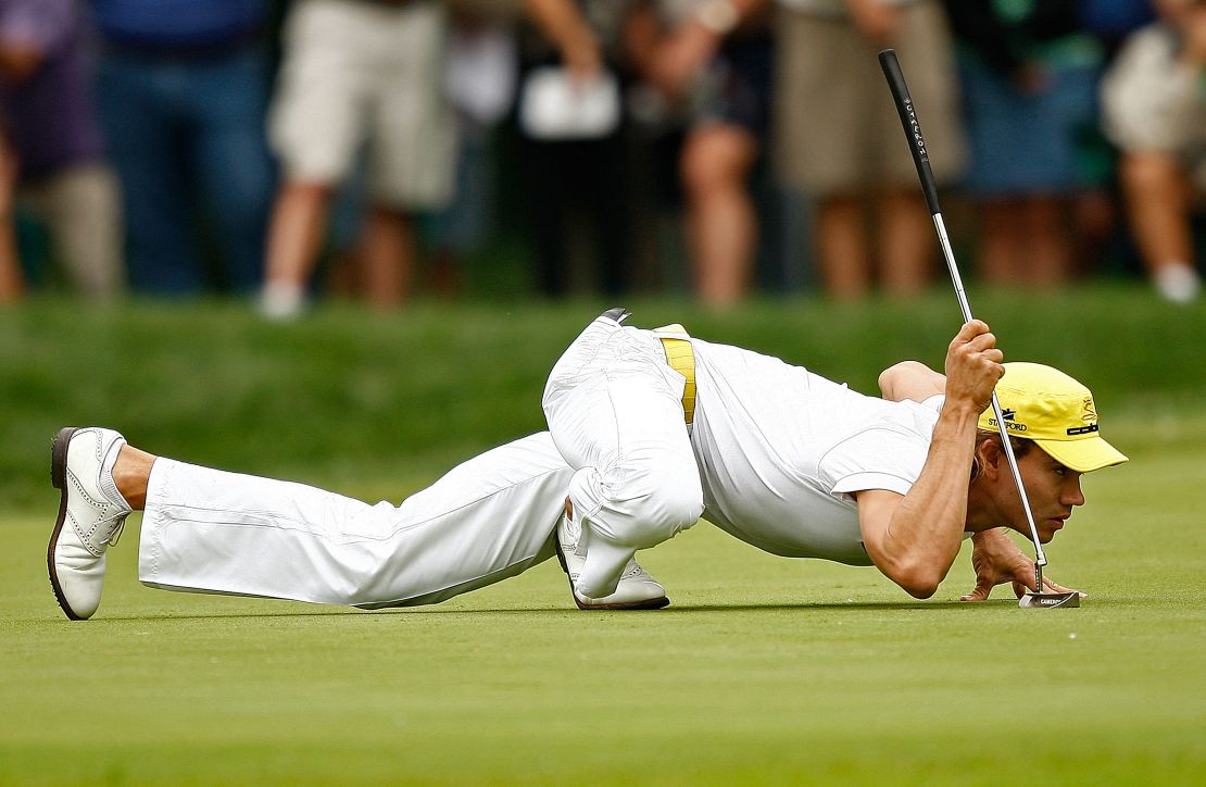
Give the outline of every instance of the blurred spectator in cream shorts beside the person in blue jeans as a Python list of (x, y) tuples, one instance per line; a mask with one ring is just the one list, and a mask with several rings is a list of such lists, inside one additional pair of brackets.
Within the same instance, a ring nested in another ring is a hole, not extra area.
[(365, 146), (363, 264), (373, 302), (403, 299), (410, 214), (452, 190), (456, 127), (440, 91), (446, 11), (434, 0), (302, 0), (286, 21), (269, 115), (283, 185), (262, 307), (292, 316), (326, 234), (330, 198)]

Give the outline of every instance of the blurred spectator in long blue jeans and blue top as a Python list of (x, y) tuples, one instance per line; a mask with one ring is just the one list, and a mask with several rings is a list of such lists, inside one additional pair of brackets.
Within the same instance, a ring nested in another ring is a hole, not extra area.
[[(253, 292), (274, 173), (260, 0), (93, 0), (98, 95), (122, 179), (130, 284)], [(210, 238), (198, 225), (212, 228)], [(203, 255), (211, 240), (215, 255)], [(218, 264), (207, 264), (216, 257)]]

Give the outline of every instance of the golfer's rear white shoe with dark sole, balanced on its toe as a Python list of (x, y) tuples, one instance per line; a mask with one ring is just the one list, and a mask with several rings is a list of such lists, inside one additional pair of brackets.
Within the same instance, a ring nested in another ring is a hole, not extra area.
[(59, 430), (51, 451), (51, 482), (63, 490), (59, 518), (46, 550), (51, 585), (72, 620), (90, 618), (105, 584), (105, 550), (117, 543), (130, 507), (113, 483), (125, 438), (109, 429)]

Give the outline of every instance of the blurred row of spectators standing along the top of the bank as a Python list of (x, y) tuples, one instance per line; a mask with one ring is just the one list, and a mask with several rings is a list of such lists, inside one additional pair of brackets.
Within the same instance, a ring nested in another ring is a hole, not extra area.
[[(0, 302), (1199, 297), (1206, 0), (0, 0)], [(479, 276), (491, 281), (491, 276)]]

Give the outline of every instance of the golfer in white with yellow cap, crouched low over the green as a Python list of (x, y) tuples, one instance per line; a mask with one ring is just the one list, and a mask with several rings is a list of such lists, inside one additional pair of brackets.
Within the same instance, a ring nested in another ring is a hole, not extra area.
[(964, 597), (1005, 582), (1020, 595), (1035, 571), (1003, 532), (1028, 525), (994, 386), (1043, 542), (1084, 503), (1082, 473), (1126, 461), (1101, 438), (1088, 389), (1002, 365), (980, 321), (952, 340), (946, 375), (906, 361), (880, 374), (876, 398), (626, 316), (601, 315), (557, 362), (549, 432), (470, 459), (397, 507), (153, 456), (107, 429), (60, 431), (47, 552), (59, 605), (72, 619), (96, 611), (105, 552), (131, 509), (146, 512), (139, 578), (168, 590), (410, 606), (557, 554), (578, 606), (654, 608), (666, 593), (636, 550), (703, 515), (778, 555), (874, 565), (919, 599), (970, 532), (976, 589)]

